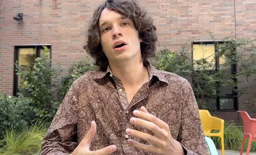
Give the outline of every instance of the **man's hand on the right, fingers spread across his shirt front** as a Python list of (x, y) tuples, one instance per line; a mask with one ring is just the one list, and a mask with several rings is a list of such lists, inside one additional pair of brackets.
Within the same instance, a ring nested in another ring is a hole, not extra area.
[(171, 136), (167, 123), (149, 114), (145, 107), (140, 108), (140, 111), (134, 110), (133, 114), (139, 118), (132, 117), (130, 122), (134, 125), (151, 130), (154, 136), (138, 130), (126, 129), (126, 134), (152, 143), (152, 145), (145, 145), (129, 139), (127, 141), (128, 144), (138, 149), (154, 153), (155, 155), (184, 155), (184, 150), (180, 143)]

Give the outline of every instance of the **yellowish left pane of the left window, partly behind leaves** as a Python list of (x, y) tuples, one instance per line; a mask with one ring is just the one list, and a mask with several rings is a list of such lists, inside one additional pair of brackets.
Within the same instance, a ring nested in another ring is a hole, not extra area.
[[(34, 70), (33, 63), (35, 63), (35, 48), (20, 48), (18, 49), (19, 65), (22, 70)], [(28, 94), (28, 91), (23, 88), (24, 80), (18, 76), (18, 92), (22, 94)]]

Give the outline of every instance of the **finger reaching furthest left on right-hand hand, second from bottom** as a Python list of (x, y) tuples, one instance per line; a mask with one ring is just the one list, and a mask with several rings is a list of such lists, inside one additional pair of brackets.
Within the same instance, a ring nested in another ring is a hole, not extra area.
[(126, 129), (125, 132), (130, 136), (135, 136), (147, 142), (155, 144), (156, 146), (161, 146), (161, 140), (159, 140), (156, 136), (152, 136), (151, 134), (133, 129)]

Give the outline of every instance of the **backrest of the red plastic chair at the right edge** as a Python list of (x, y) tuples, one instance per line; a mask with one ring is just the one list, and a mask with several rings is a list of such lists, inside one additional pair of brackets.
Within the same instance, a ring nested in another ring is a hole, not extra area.
[(256, 121), (252, 120), (247, 112), (244, 112), (244, 111), (237, 111), (237, 112), (239, 112), (242, 117), (242, 122), (244, 124), (244, 133), (256, 135), (256, 129), (255, 129)]

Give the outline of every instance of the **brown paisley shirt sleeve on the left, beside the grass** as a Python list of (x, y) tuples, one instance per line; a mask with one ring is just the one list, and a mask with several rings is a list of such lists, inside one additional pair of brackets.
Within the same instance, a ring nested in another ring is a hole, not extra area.
[(39, 155), (68, 155), (77, 147), (78, 92), (74, 83), (58, 108)]

